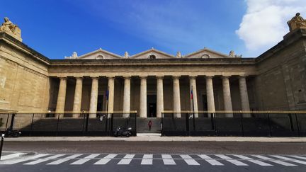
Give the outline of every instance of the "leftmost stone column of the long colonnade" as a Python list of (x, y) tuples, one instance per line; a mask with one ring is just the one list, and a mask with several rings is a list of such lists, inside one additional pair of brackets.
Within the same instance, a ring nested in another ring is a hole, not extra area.
[[(67, 88), (67, 78), (61, 77), (60, 78), (60, 88), (57, 96), (57, 107), (55, 112), (56, 113), (64, 113), (64, 104), (66, 100), (66, 88)], [(60, 117), (64, 115), (61, 114)]]

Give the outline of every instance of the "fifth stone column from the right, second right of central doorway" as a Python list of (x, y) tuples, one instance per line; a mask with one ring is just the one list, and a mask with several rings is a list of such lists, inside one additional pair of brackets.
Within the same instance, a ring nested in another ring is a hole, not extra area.
[(181, 96), (179, 87), (179, 76), (173, 76), (174, 84), (174, 116), (181, 117)]

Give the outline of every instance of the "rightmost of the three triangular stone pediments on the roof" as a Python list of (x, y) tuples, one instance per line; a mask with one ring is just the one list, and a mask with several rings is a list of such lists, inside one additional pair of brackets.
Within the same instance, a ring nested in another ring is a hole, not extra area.
[(196, 52), (192, 52), (191, 54), (184, 55), (183, 58), (227, 58), (229, 55), (222, 54), (220, 52), (215, 52), (213, 50), (209, 50), (208, 48), (204, 48), (202, 50), (198, 50)]

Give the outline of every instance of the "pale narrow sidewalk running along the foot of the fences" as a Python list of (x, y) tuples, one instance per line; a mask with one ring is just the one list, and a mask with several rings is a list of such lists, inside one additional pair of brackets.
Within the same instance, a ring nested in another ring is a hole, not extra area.
[(160, 137), (138, 134), (137, 137), (17, 137), (5, 138), (4, 142), (306, 142), (306, 137)]

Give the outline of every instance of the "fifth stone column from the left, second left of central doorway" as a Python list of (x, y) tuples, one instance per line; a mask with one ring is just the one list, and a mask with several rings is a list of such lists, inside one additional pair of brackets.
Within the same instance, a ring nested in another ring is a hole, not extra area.
[(125, 77), (123, 93), (123, 117), (130, 117), (130, 76)]

